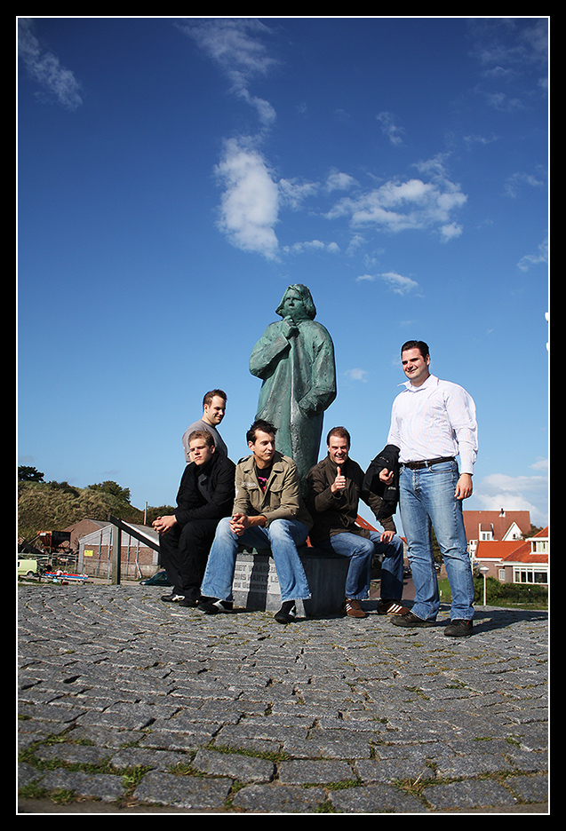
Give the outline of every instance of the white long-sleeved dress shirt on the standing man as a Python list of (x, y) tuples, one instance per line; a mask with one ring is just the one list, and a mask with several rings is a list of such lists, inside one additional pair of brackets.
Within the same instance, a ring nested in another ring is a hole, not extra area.
[(472, 474), (477, 455), (472, 396), (433, 375), (418, 387), (407, 381), (393, 402), (387, 444), (399, 447), (401, 463), (459, 455), (460, 473)]

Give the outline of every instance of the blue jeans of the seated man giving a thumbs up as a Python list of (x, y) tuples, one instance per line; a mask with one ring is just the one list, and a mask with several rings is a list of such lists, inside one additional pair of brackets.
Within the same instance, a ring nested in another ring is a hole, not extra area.
[(349, 557), (345, 593), (348, 600), (366, 600), (370, 593), (371, 561), (383, 556), (381, 565), (381, 598), (401, 600), (403, 597), (403, 540), (394, 536), (391, 542), (381, 542), (381, 534), (370, 531), (370, 539), (360, 534), (341, 531), (319, 547), (333, 551), (339, 557)]

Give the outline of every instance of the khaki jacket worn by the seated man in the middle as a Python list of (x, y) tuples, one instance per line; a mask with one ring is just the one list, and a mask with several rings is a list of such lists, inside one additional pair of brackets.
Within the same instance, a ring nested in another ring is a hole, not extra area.
[(267, 526), (274, 519), (296, 519), (313, 526), (313, 520), (300, 496), (297, 465), (289, 456), (275, 452), (265, 494), (259, 487), (253, 455), (247, 456), (235, 468), (234, 513), (248, 517), (267, 518)]

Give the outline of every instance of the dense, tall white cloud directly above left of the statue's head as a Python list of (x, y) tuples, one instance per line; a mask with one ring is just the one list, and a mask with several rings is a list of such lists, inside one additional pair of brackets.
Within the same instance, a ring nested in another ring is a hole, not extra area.
[(263, 156), (252, 146), (229, 139), (216, 174), (225, 187), (220, 229), (236, 248), (275, 259), (279, 189)]

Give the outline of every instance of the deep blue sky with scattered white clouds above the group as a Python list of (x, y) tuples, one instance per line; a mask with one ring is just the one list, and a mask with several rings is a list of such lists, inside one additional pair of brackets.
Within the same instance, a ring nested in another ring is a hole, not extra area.
[(247, 451), (301, 282), (359, 463), (419, 338), (476, 402), (465, 509), (547, 523), (546, 18), (18, 23), (18, 463), (174, 503), (203, 392)]

